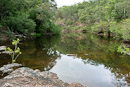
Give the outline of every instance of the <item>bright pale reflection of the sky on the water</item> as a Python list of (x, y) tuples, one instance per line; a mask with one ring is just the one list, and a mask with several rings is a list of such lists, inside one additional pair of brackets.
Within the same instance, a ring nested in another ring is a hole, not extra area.
[(65, 55), (50, 71), (57, 73), (63, 81), (80, 82), (88, 87), (115, 87), (112, 83), (116, 83), (115, 76), (104, 65), (94, 66)]

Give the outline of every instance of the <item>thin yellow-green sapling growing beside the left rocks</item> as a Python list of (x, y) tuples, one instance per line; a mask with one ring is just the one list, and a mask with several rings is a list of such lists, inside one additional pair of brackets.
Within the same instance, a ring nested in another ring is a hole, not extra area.
[(11, 49), (10, 47), (7, 47), (5, 51), (9, 51), (9, 55), (12, 57), (12, 63), (16, 62), (16, 59), (19, 57), (22, 52), (20, 51), (20, 48), (18, 47), (19, 39), (13, 40), (12, 45), (14, 45), (14, 49)]

